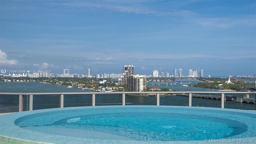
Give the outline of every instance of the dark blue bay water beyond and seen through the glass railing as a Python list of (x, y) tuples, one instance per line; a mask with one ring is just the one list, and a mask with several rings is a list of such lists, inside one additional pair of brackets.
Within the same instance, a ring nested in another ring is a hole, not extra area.
[[(195, 88), (182, 86), (190, 82), (149, 82), (148, 86), (152, 88), (169, 88), (180, 91), (218, 91), (216, 89)], [(64, 86), (44, 84), (40, 82), (0, 82), (0, 92), (89, 92), (78, 88), (67, 88)], [(228, 94), (230, 95), (230, 94)], [(239, 95), (238, 96), (243, 96)], [(253, 95), (250, 95), (253, 97)], [(0, 113), (18, 112), (18, 95), (0, 95)], [(92, 95), (64, 95), (64, 107), (73, 106), (91, 106)], [(100, 105), (122, 105), (121, 94), (96, 94), (96, 106)], [(147, 96), (126, 96), (126, 105), (156, 105), (156, 97)], [(160, 96), (160, 105), (166, 106), (188, 106), (188, 97), (186, 96)], [(221, 107), (218, 100), (208, 100), (204, 98), (192, 98), (192, 106)], [(58, 108), (60, 107), (59, 95), (35, 95), (33, 96), (33, 109)], [(254, 104), (244, 103), (225, 103), (225, 108), (254, 110)], [(24, 110), (28, 110), (28, 96), (24, 96)]]

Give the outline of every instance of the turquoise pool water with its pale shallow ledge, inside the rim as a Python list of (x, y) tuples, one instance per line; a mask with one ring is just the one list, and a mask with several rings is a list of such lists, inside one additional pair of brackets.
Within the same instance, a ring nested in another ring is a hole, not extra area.
[[(68, 136), (72, 131), (72, 136), (80, 138), (92, 138), (89, 133), (93, 132), (139, 141), (254, 137), (256, 113), (244, 112), (182, 106), (96, 106), (57, 108), (51, 112), (22, 116), (14, 123), (26, 130), (62, 136)], [(59, 128), (62, 128), (61, 133)], [(87, 133), (74, 134), (74, 130)]]

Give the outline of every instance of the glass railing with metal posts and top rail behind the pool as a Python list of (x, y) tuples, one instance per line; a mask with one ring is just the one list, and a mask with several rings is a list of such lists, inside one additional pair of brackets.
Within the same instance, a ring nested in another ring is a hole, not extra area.
[(256, 92), (0, 92), (0, 113), (109, 105), (200, 106), (256, 110)]

